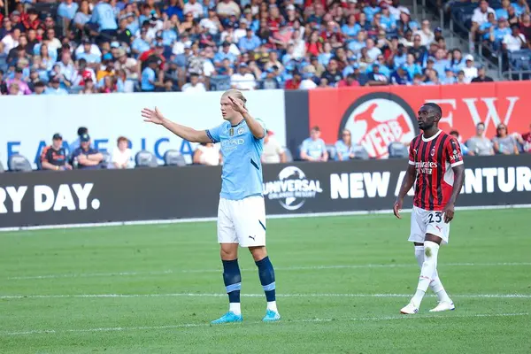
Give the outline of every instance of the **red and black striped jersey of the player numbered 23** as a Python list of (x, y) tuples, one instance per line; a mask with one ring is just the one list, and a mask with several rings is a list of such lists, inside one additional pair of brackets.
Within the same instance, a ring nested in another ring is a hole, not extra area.
[(428, 139), (418, 135), (410, 145), (409, 164), (416, 170), (413, 205), (442, 211), (453, 189), (452, 167), (463, 164), (459, 142), (442, 130)]

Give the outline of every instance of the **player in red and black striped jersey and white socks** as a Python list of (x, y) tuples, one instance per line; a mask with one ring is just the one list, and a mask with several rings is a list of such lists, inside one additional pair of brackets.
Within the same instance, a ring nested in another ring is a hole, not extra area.
[(438, 127), (441, 116), (441, 107), (437, 104), (427, 103), (420, 107), (417, 119), (423, 134), (412, 140), (409, 166), (393, 207), (396, 218), (402, 219), (399, 211), (402, 209), (404, 196), (416, 181), (408, 241), (415, 244), (420, 277), (415, 295), (400, 310), (404, 314), (419, 312), (428, 287), (439, 299), (439, 304), (430, 312), (455, 309), (437, 273), (437, 254), (439, 245), (448, 243), (454, 204), (465, 179), (465, 165), (459, 142)]

